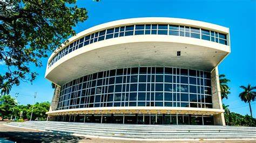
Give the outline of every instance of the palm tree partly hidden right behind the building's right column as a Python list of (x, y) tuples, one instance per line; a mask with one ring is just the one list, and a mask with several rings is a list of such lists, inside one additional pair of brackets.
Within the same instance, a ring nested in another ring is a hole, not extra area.
[(230, 87), (228, 87), (227, 83), (230, 82), (227, 78), (225, 78), (224, 74), (219, 75), (220, 80), (220, 93), (221, 99), (228, 98), (228, 94), (230, 94)]

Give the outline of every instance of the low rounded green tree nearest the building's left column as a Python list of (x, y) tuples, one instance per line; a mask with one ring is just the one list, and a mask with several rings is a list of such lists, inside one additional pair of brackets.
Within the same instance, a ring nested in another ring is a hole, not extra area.
[[(38, 118), (38, 120), (46, 120), (47, 115), (45, 112), (48, 112), (50, 108), (50, 102), (42, 102), (36, 103), (33, 108), (32, 120)], [(26, 117), (30, 118), (32, 112), (32, 106), (30, 106), (29, 110), (26, 112)]]

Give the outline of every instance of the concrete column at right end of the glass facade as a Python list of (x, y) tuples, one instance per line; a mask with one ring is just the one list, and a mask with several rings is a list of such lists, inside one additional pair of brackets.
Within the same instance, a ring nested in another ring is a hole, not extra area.
[[(222, 101), (221, 101), (218, 67), (215, 67), (215, 69), (211, 73), (211, 84), (212, 84), (212, 104), (213, 104), (212, 108), (223, 109)], [(224, 113), (219, 113), (218, 115), (214, 115), (213, 117), (214, 117), (215, 125), (225, 126)]]

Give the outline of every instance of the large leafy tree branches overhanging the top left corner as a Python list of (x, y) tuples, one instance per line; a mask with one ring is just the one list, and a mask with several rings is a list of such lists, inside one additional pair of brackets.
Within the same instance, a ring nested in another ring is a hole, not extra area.
[(10, 84), (35, 80), (41, 58), (66, 44), (72, 27), (87, 19), (87, 11), (75, 0), (0, 1), (0, 61), (5, 62), (3, 75)]

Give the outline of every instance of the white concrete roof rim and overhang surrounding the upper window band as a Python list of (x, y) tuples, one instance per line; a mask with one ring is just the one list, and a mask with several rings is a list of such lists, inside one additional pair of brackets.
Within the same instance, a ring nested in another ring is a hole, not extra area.
[[(228, 33), (228, 28), (179, 18), (132, 18), (91, 27), (70, 38), (70, 42), (107, 27), (137, 23), (168, 23), (203, 27)], [(177, 56), (181, 51), (181, 56)], [(77, 49), (46, 69), (45, 77), (63, 85), (75, 78), (114, 68), (166, 66), (211, 71), (230, 53), (230, 46), (174, 35), (131, 35), (98, 41)], [(50, 56), (49, 60), (52, 58)]]

